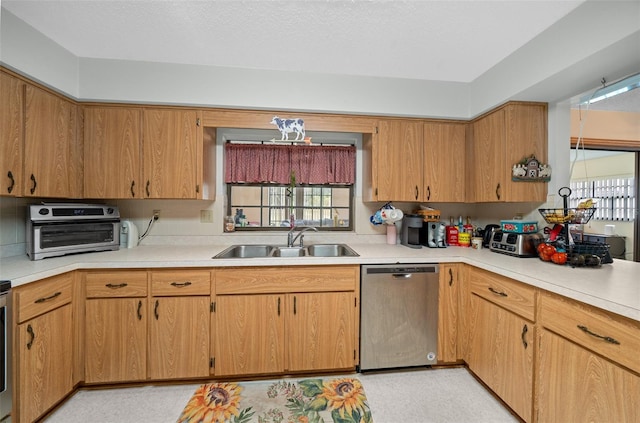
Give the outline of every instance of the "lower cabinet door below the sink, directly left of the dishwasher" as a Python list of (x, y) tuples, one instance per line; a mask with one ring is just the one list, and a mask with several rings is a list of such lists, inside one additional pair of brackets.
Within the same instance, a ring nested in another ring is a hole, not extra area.
[(287, 302), (287, 370), (355, 367), (353, 292), (290, 294)]

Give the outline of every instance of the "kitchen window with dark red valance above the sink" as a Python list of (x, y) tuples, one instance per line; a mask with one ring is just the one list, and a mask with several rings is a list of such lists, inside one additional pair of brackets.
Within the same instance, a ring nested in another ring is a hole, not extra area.
[(353, 230), (355, 146), (227, 142), (227, 215), (236, 230)]

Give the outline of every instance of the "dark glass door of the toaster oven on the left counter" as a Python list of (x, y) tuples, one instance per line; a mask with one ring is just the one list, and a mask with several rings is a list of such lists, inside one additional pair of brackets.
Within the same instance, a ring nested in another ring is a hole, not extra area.
[(120, 220), (33, 222), (32, 228), (32, 260), (120, 246)]

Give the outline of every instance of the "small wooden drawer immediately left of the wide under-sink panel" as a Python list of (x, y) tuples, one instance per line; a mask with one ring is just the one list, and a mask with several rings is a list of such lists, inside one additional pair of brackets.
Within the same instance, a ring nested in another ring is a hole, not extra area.
[(151, 295), (154, 297), (210, 294), (211, 272), (209, 270), (151, 272)]

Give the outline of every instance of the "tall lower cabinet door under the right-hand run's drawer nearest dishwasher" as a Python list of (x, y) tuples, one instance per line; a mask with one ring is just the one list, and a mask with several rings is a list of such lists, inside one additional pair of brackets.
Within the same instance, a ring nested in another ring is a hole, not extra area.
[(471, 296), (469, 369), (524, 421), (531, 421), (534, 325)]

